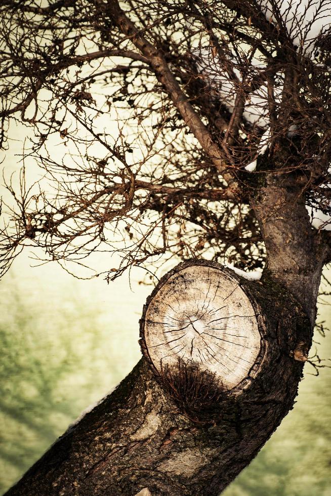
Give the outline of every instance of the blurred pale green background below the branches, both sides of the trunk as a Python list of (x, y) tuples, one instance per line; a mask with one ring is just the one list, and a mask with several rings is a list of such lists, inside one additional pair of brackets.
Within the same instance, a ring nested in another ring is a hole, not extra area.
[[(138, 361), (138, 320), (151, 291), (29, 263), (19, 258), (0, 285), (2, 492)], [(330, 307), (321, 317), (330, 320)], [(316, 340), (320, 356), (331, 356), (331, 336)], [(331, 495), (331, 370), (312, 372), (306, 365), (294, 410), (225, 496)]]

